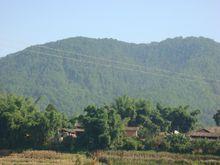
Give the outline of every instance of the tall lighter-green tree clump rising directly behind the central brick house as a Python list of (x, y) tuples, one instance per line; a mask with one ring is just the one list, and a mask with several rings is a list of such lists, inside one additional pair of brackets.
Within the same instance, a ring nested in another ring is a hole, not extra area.
[(170, 122), (163, 116), (162, 111), (155, 108), (151, 101), (122, 96), (115, 100), (113, 108), (122, 119), (128, 120), (128, 126), (142, 127), (141, 137), (153, 136), (160, 131), (167, 131), (170, 127)]

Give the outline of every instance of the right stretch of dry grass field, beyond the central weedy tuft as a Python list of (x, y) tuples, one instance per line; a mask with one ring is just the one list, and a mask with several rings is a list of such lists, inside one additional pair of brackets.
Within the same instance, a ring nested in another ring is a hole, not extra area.
[(100, 151), (96, 153), (100, 161), (114, 165), (146, 164), (220, 164), (219, 156), (174, 154), (155, 151)]

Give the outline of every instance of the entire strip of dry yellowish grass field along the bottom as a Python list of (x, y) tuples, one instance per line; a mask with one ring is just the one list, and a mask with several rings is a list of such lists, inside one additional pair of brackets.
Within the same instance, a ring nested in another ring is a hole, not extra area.
[[(23, 151), (0, 157), (1, 165), (156, 165), (156, 164), (220, 164), (220, 157), (212, 155), (172, 154), (154, 151), (99, 151), (88, 158), (83, 154), (55, 151)], [(99, 160), (99, 161), (98, 161)]]

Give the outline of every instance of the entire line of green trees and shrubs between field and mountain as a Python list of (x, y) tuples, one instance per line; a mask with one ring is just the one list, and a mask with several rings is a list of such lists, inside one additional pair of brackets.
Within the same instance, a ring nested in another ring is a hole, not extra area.
[[(89, 105), (84, 113), (67, 118), (49, 104), (40, 110), (37, 101), (22, 96), (0, 95), (0, 148), (55, 148), (68, 151), (99, 149), (158, 150), (219, 154), (219, 141), (198, 140), (193, 143), (183, 133), (195, 128), (199, 110), (189, 106), (154, 105), (144, 99), (122, 96), (112, 104)], [(213, 117), (219, 121), (219, 111)], [(58, 137), (61, 128), (73, 128), (80, 123), (84, 133), (76, 138)], [(216, 122), (218, 124), (218, 122)], [(125, 127), (139, 127), (138, 138), (126, 137)], [(178, 131), (179, 134), (174, 134)], [(56, 146), (56, 147), (55, 147)], [(57, 147), (58, 146), (58, 147)]]

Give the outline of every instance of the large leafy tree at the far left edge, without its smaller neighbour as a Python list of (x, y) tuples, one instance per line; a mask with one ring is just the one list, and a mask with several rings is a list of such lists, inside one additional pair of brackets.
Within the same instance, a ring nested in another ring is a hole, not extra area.
[[(0, 141), (6, 148), (41, 145), (43, 115), (30, 98), (0, 96)], [(44, 125), (44, 124), (43, 124)], [(38, 129), (36, 129), (38, 128)]]

